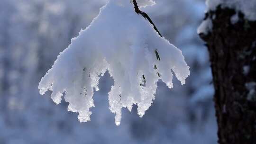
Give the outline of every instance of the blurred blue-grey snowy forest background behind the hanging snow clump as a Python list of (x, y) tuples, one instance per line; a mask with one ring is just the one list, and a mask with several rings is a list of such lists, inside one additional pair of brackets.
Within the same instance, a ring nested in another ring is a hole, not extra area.
[(107, 0), (1, 0), (0, 144), (216, 144), (210, 63), (196, 33), (204, 0), (155, 1), (142, 10), (183, 51), (191, 76), (184, 86), (175, 79), (171, 90), (158, 82), (146, 115), (123, 109), (116, 126), (108, 108), (109, 74), (100, 80), (87, 123), (67, 111), (67, 103), (55, 105), (50, 92), (41, 96), (37, 89), (56, 56)]

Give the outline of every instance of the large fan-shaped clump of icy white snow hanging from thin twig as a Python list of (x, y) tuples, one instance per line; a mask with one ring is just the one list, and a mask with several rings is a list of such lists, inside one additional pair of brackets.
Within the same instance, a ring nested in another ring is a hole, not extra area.
[(40, 94), (52, 90), (56, 104), (65, 93), (68, 110), (79, 112), (79, 121), (86, 122), (94, 107), (93, 90), (99, 90), (99, 79), (107, 70), (114, 79), (109, 104), (116, 125), (122, 107), (131, 110), (137, 104), (138, 115), (145, 114), (155, 99), (159, 79), (172, 88), (173, 72), (182, 84), (190, 74), (182, 52), (135, 13), (128, 0), (110, 0), (60, 53), (38, 88)]

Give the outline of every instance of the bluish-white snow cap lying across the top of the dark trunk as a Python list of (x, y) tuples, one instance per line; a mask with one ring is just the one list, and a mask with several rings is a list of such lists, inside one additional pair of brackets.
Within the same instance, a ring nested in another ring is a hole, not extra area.
[(256, 20), (256, 0), (206, 0), (207, 11), (215, 10), (219, 4), (241, 11), (248, 20)]

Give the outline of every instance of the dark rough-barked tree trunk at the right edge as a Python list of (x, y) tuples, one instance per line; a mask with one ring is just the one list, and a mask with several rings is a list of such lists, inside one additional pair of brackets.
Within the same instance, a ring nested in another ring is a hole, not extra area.
[(200, 34), (210, 53), (219, 144), (256, 144), (256, 21), (234, 9), (209, 11), (212, 30)]

